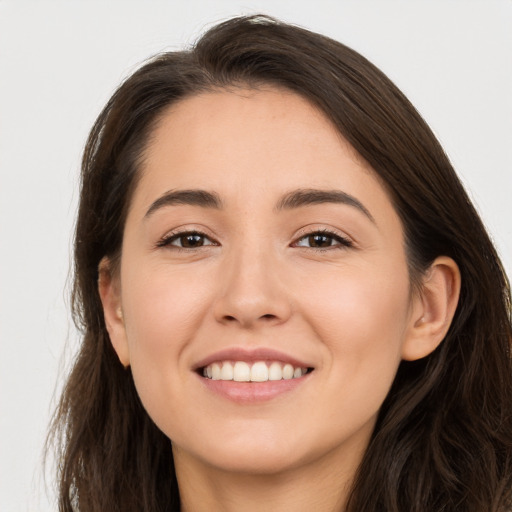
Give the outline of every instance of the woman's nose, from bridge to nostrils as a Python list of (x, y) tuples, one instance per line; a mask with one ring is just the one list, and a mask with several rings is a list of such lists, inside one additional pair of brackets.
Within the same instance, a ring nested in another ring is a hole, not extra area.
[(226, 259), (214, 306), (218, 322), (256, 329), (288, 320), (292, 305), (277, 260), (271, 251), (249, 247)]

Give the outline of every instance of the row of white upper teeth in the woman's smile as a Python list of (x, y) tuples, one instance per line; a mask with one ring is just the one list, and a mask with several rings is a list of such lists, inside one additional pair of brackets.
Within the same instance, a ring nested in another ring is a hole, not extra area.
[(223, 361), (203, 368), (203, 376), (212, 380), (234, 380), (236, 382), (267, 382), (268, 380), (298, 379), (307, 373), (307, 368), (296, 367), (274, 361), (270, 364), (257, 361)]

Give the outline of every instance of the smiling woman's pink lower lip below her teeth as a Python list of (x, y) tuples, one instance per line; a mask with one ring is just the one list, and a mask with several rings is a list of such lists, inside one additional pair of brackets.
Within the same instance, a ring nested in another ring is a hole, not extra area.
[(258, 403), (272, 400), (295, 390), (305, 383), (311, 373), (295, 379), (268, 380), (266, 382), (235, 382), (213, 380), (198, 376), (209, 391), (238, 403)]

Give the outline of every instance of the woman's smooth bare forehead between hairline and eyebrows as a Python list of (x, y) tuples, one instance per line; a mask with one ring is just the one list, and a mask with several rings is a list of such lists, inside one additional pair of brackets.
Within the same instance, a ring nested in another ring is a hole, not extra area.
[(337, 188), (388, 203), (368, 164), (329, 119), (284, 89), (202, 93), (169, 107), (146, 148), (134, 201), (166, 190), (215, 190), (227, 203), (293, 188)]

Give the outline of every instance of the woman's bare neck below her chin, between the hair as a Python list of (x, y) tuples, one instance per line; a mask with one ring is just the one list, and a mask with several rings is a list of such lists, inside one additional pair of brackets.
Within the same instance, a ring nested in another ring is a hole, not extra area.
[(181, 510), (342, 512), (359, 455), (357, 461), (341, 465), (338, 457), (324, 458), (283, 472), (248, 474), (207, 466), (175, 448)]

